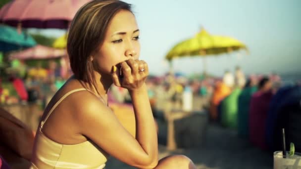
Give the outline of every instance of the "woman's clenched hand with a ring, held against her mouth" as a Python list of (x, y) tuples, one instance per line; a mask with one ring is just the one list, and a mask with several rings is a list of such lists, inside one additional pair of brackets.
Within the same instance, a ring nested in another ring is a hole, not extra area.
[(112, 67), (112, 79), (116, 86), (133, 91), (145, 84), (149, 75), (149, 67), (145, 61), (128, 59), (119, 64), (120, 68)]

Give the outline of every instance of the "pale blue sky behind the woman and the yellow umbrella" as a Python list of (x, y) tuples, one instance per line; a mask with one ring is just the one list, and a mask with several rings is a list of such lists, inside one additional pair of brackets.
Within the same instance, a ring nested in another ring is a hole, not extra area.
[[(164, 59), (178, 42), (203, 27), (212, 35), (229, 36), (250, 53), (208, 56), (207, 72), (220, 76), (239, 65), (246, 74), (301, 72), (301, 0), (125, 0), (133, 4), (140, 29), (141, 59), (151, 74), (169, 70)], [(65, 31), (42, 31), (60, 36)], [(203, 58), (177, 58), (173, 70), (201, 73)]]

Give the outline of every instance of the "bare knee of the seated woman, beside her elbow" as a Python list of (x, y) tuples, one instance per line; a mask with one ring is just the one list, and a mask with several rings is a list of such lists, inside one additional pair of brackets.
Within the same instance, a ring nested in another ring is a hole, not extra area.
[(161, 159), (155, 169), (196, 169), (196, 166), (187, 156), (172, 155)]

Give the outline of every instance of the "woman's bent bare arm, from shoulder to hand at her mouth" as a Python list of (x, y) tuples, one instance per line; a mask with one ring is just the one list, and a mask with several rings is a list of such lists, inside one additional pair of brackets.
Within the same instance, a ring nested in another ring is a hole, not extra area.
[[(144, 66), (145, 72), (138, 67)], [(134, 60), (121, 65), (124, 78), (120, 81), (117, 71), (113, 81), (129, 89), (136, 117), (136, 139), (120, 124), (113, 112), (94, 96), (87, 97), (74, 106), (78, 128), (108, 154), (120, 161), (141, 169), (152, 169), (158, 163), (157, 135), (151, 112), (146, 84), (148, 68), (145, 62), (137, 65)], [(136, 71), (132, 71), (137, 68)], [(131, 74), (131, 75), (130, 75)], [(79, 106), (81, 105), (81, 106)]]

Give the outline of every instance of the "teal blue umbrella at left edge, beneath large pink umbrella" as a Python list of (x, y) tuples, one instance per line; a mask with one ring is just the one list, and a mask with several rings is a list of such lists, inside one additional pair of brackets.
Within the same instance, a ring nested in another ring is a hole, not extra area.
[(37, 42), (25, 32), (9, 26), (0, 25), (0, 51), (8, 52), (36, 45)]

